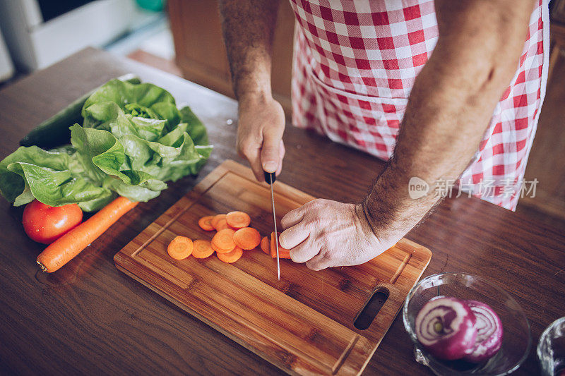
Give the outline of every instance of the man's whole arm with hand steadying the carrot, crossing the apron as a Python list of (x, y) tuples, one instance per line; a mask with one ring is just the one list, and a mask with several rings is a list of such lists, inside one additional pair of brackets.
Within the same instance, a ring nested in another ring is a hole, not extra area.
[(314, 200), (288, 213), (280, 236), (311, 269), (367, 262), (436, 204), (408, 195), (412, 176), (431, 190), (454, 180), (478, 150), (523, 48), (533, 0), (436, 0), (439, 39), (417, 76), (391, 161), (362, 205)]

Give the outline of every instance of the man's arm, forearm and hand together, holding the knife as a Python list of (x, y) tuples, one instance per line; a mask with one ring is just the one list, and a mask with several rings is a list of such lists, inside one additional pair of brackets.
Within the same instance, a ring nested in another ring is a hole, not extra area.
[(280, 173), (285, 114), (270, 89), (271, 47), (278, 0), (220, 0), (222, 30), (239, 100), (237, 150), (256, 178)]

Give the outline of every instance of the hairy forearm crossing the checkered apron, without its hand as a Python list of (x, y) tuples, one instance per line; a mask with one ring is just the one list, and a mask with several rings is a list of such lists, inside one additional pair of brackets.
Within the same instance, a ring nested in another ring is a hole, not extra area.
[[(411, 229), (438, 201), (436, 182), (460, 176), (513, 76), (532, 3), (522, 1), (522, 8), (509, 3), (501, 9), (477, 3), (471, 12), (450, 8), (462, 7), (460, 2), (436, 1), (436, 49), (412, 87), (393, 157), (364, 200), (377, 236), (383, 230)], [(416, 200), (408, 194), (413, 176), (430, 186), (429, 193)]]

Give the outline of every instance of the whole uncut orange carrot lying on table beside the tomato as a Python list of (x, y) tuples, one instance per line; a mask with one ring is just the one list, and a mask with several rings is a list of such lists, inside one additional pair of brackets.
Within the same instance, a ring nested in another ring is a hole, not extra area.
[(44, 272), (52, 273), (71, 261), (90, 243), (102, 235), (109, 226), (129, 212), (138, 202), (119, 197), (99, 212), (61, 236), (37, 256), (37, 264)]

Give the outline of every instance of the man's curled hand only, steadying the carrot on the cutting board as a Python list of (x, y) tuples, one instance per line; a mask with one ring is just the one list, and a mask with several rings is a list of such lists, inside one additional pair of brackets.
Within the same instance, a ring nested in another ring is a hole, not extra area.
[(377, 237), (362, 205), (313, 200), (288, 212), (280, 221), (285, 231), (280, 245), (294, 262), (313, 270), (359, 265), (391, 248), (402, 234)]

